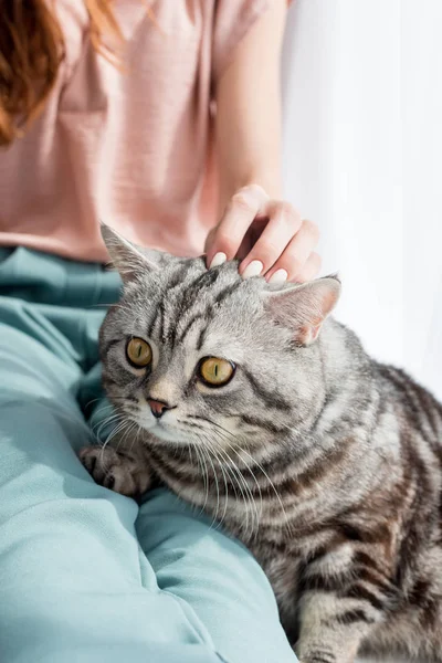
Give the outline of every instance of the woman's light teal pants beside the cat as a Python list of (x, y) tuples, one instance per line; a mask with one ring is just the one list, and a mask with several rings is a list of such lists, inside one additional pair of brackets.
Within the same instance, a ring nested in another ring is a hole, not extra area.
[(76, 457), (109, 428), (97, 332), (118, 288), (101, 265), (0, 249), (1, 663), (293, 663), (239, 543)]

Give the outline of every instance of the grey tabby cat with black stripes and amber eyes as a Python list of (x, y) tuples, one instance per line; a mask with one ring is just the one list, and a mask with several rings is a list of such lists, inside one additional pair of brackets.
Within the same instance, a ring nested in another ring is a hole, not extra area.
[(242, 539), (303, 663), (442, 661), (442, 406), (329, 316), (336, 277), (272, 286), (103, 235), (124, 282), (103, 381), (137, 434), (81, 451), (94, 478), (159, 478)]

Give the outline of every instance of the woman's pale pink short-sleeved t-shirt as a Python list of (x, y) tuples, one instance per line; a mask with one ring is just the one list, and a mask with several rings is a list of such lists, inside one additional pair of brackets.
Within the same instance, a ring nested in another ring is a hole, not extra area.
[(57, 0), (66, 57), (43, 114), (0, 151), (0, 244), (106, 261), (99, 220), (139, 244), (203, 250), (215, 219), (213, 82), (269, 0), (116, 0), (123, 72), (81, 0)]

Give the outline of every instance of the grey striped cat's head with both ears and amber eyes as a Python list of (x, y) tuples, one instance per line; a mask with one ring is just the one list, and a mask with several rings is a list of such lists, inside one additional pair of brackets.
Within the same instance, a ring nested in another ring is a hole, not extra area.
[(271, 286), (234, 261), (208, 271), (103, 235), (124, 282), (101, 332), (104, 383), (154, 443), (253, 449), (315, 418), (335, 277)]

